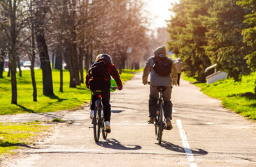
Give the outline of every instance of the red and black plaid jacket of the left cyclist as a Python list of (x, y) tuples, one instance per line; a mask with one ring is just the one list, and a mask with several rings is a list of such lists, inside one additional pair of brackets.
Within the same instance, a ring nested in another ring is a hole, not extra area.
[(113, 77), (113, 79), (115, 80), (115, 82), (118, 86), (118, 89), (122, 89), (122, 81), (120, 79), (120, 75), (119, 75), (117, 68), (112, 63), (109, 63), (107, 61), (105, 61), (105, 63), (106, 63), (107, 67), (106, 67), (106, 74), (105, 74), (104, 79), (102, 79), (100, 77), (98, 77), (98, 78), (92, 77), (91, 68), (88, 70), (87, 75), (86, 75), (86, 81), (85, 81), (87, 88), (89, 88), (90, 81), (92, 81), (92, 80), (106, 81), (106, 82), (108, 82), (109, 86), (111, 86), (111, 77)]

